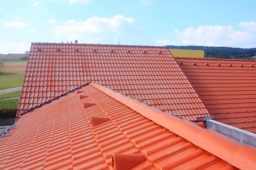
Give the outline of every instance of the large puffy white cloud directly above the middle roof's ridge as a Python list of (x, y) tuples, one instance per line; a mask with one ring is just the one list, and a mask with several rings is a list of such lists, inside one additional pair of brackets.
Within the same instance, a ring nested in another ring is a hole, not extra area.
[(122, 15), (112, 18), (92, 17), (85, 21), (68, 20), (63, 25), (53, 27), (56, 37), (66, 40), (85, 40), (89, 42), (100, 42), (108, 37), (110, 33), (135, 34), (137, 28), (135, 20)]

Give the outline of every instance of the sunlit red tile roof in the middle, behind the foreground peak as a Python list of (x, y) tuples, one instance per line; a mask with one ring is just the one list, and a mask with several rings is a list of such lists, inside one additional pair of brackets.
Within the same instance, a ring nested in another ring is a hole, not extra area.
[(18, 110), (87, 82), (196, 120), (211, 116), (166, 47), (32, 43)]

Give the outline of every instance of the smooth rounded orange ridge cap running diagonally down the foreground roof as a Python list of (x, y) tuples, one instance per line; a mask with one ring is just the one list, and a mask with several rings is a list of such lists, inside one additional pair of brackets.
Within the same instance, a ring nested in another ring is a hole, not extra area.
[(214, 130), (203, 129), (186, 119), (177, 118), (96, 83), (92, 82), (90, 85), (239, 169), (256, 167), (256, 147), (243, 145)]

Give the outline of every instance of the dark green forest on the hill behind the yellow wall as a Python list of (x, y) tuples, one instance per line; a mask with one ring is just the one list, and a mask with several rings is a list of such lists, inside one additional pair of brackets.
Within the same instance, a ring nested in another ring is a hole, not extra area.
[(169, 49), (204, 50), (206, 58), (252, 59), (256, 55), (256, 48), (208, 47), (196, 45), (167, 45)]

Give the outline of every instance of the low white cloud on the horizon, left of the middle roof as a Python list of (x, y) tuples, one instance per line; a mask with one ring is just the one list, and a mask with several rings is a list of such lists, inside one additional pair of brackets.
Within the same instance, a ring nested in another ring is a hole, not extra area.
[(30, 45), (29, 42), (0, 44), (0, 54), (24, 53), (29, 51)]

